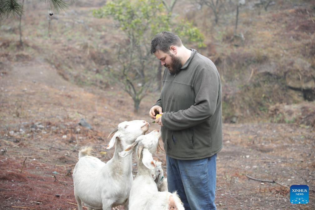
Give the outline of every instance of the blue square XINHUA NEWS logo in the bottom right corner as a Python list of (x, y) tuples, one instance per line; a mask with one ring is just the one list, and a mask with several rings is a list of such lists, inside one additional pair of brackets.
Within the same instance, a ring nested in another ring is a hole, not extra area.
[(307, 185), (291, 185), (290, 202), (293, 204), (308, 203), (308, 186)]

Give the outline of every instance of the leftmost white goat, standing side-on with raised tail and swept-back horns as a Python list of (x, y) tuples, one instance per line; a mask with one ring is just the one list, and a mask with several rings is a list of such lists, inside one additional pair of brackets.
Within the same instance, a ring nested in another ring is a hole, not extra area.
[(82, 202), (89, 210), (110, 210), (117, 205), (124, 205), (128, 210), (133, 182), (132, 156), (121, 157), (118, 153), (128, 145), (135, 144), (137, 137), (145, 134), (148, 129), (149, 124), (144, 120), (119, 123), (108, 135), (116, 132), (107, 145), (107, 149), (110, 149), (116, 142), (114, 155), (107, 163), (89, 156), (91, 147), (79, 151), (79, 161), (72, 174), (78, 210), (82, 210)]

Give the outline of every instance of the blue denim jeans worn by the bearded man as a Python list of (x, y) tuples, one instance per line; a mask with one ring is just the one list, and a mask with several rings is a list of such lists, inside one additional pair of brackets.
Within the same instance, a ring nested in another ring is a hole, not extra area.
[(166, 155), (168, 190), (177, 190), (185, 210), (216, 209), (216, 156), (179, 160)]

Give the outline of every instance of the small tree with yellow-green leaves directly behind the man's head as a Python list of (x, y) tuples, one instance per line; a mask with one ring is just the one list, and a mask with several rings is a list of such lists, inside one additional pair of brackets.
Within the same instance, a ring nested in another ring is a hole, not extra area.
[(204, 45), (198, 29), (191, 23), (176, 24), (159, 0), (110, 1), (93, 14), (99, 18), (111, 16), (123, 31), (123, 40), (116, 43), (116, 52), (113, 52), (119, 65), (109, 70), (112, 78), (122, 83), (123, 90), (133, 99), (135, 112), (148, 91), (157, 84), (157, 74), (161, 75), (160, 64), (150, 53), (151, 38), (155, 34), (172, 28), (175, 32), (182, 30), (180, 35), (184, 35), (184, 40)]

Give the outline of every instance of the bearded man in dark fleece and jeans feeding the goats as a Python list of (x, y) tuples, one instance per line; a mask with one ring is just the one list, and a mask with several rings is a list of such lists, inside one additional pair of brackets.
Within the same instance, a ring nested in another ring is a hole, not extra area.
[[(155, 35), (154, 54), (166, 68), (149, 115), (161, 125), (168, 190), (186, 210), (215, 207), (216, 153), (222, 149), (222, 90), (214, 63), (169, 31)], [(162, 114), (155, 118), (156, 114)]]

